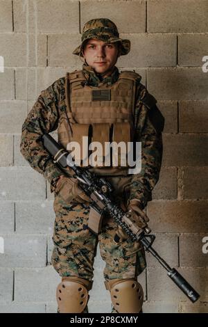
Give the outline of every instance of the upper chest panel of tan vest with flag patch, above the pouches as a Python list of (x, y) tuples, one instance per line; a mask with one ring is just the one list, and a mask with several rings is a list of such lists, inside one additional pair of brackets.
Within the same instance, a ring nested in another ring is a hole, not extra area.
[[(72, 112), (78, 123), (132, 120), (135, 109), (135, 80), (139, 77), (137, 73), (121, 72), (116, 83), (101, 87), (86, 86), (82, 71), (69, 73), (68, 76), (71, 111), (67, 109), (67, 112), (69, 115)], [(67, 107), (69, 108), (68, 104)]]

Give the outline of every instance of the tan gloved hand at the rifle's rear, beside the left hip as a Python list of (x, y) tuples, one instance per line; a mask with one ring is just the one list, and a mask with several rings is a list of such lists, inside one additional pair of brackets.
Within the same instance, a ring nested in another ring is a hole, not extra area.
[(73, 177), (61, 175), (55, 185), (55, 193), (58, 194), (66, 203), (91, 202), (91, 199), (78, 186), (78, 180)]

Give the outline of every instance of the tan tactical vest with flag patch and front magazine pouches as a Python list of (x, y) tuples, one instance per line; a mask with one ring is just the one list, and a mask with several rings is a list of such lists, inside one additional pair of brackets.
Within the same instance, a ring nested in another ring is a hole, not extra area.
[[(83, 136), (92, 141), (128, 142), (133, 138), (133, 123), (136, 97), (136, 79), (139, 74), (123, 71), (112, 86), (87, 86), (83, 72), (67, 73), (65, 79), (66, 111), (58, 125), (58, 141), (67, 148), (70, 141), (76, 141), (83, 148)], [(120, 165), (123, 150), (119, 152), (116, 167), (98, 166), (91, 170), (99, 175), (128, 175), (128, 166)], [(112, 154), (112, 156), (114, 153)], [(83, 159), (83, 151), (80, 153)], [(103, 162), (104, 157), (99, 158)], [(90, 166), (90, 165), (89, 165)]]

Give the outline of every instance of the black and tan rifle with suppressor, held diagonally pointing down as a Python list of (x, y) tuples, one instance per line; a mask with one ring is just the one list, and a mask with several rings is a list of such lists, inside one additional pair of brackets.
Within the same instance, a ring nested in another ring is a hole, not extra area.
[[(145, 248), (145, 250), (151, 253), (157, 261), (168, 271), (168, 277), (175, 282), (177, 287), (179, 287), (182, 292), (191, 300), (191, 302), (196, 302), (200, 297), (200, 294), (196, 292), (193, 287), (185, 280), (185, 278), (175, 269), (168, 266), (162, 257), (154, 250), (152, 247), (153, 241), (155, 241), (155, 235), (149, 234), (150, 229), (138, 228), (137, 224), (132, 222), (129, 218), (128, 212), (124, 212), (121, 207), (116, 205), (116, 202), (111, 199), (111, 193), (113, 191), (112, 186), (103, 177), (98, 177), (94, 173), (89, 172), (87, 168), (80, 168), (75, 166), (69, 152), (67, 152), (64, 147), (62, 147), (58, 142), (56, 142), (49, 134), (44, 134), (42, 136), (43, 145), (46, 150), (51, 154), (53, 162), (55, 162), (61, 169), (70, 167), (78, 181), (80, 182), (80, 187), (85, 191), (87, 196), (92, 199), (90, 206), (94, 211), (94, 217), (100, 217), (103, 212), (108, 212), (118, 223), (118, 225), (123, 228), (124, 232), (132, 239), (132, 241), (139, 241)], [(92, 223), (88, 226), (89, 230), (92, 232), (98, 232), (101, 226), (101, 221), (98, 224)]]

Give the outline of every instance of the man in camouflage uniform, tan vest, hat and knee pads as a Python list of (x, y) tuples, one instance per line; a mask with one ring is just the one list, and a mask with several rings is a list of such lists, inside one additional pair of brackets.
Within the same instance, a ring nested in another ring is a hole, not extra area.
[[(55, 194), (52, 264), (62, 277), (57, 287), (58, 312), (88, 312), (96, 246), (105, 260), (105, 286), (112, 312), (141, 312), (143, 290), (137, 276), (145, 269), (144, 248), (129, 239), (105, 214), (98, 235), (87, 224), (90, 198), (80, 189), (71, 168), (60, 170), (44, 150), (42, 135), (58, 128), (58, 141), (82, 145), (92, 134), (102, 144), (112, 140), (140, 141), (141, 172), (128, 174), (128, 166), (90, 169), (114, 186), (120, 205), (137, 218), (151, 200), (162, 161), (163, 117), (155, 98), (140, 83), (136, 72), (119, 72), (119, 56), (130, 51), (130, 40), (119, 38), (110, 19), (92, 19), (83, 28), (82, 43), (73, 51), (83, 70), (67, 73), (43, 90), (22, 127), (21, 153), (49, 181)], [(101, 92), (102, 91), (102, 92)], [(132, 133), (133, 131), (133, 133)]]

